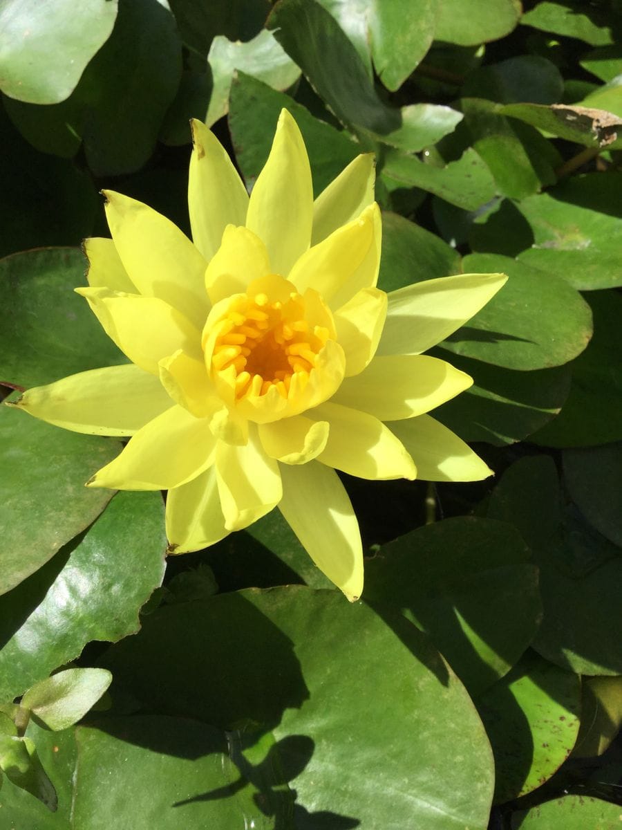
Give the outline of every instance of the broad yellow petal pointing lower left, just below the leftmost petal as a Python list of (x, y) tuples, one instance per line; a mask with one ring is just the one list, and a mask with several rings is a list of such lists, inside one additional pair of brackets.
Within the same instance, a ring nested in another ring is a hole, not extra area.
[(88, 482), (114, 490), (168, 490), (191, 481), (214, 461), (207, 424), (173, 406), (138, 430), (114, 461)]

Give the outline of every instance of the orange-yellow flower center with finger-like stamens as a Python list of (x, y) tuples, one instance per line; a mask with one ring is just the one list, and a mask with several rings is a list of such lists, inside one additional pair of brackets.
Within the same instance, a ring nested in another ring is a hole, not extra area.
[(309, 323), (305, 311), (295, 291), (275, 300), (263, 292), (235, 297), (219, 325), (211, 365), (217, 373), (233, 367), (236, 399), (265, 395), (272, 386), (288, 398), (294, 375), (304, 389), (330, 334)]

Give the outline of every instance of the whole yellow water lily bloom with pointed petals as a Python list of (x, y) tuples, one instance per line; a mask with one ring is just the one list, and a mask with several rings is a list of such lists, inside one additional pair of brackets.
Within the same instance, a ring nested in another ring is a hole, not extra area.
[(211, 132), (192, 124), (191, 242), (104, 192), (112, 239), (89, 239), (88, 300), (131, 363), (28, 390), (17, 406), (66, 429), (127, 436), (88, 486), (168, 490), (169, 551), (202, 549), (276, 505), (347, 598), (362, 592), (357, 519), (336, 470), (474, 481), (488, 467), (425, 414), (472, 379), (420, 354), (506, 277), (459, 275), (387, 295), (373, 159), (313, 201), (283, 110), (250, 198)]

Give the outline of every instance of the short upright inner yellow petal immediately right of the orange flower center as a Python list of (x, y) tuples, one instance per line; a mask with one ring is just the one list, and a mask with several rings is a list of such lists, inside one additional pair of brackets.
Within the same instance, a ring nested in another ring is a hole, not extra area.
[(364, 288), (335, 312), (337, 339), (346, 355), (346, 377), (362, 372), (376, 354), (386, 318), (386, 294)]

